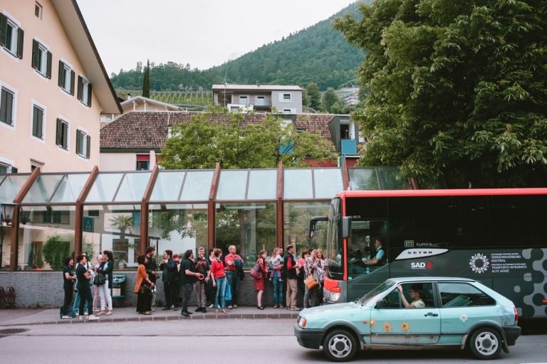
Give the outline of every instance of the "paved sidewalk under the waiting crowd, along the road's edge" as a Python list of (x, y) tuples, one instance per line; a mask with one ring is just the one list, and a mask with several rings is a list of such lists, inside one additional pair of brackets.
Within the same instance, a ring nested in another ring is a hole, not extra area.
[(194, 312), (195, 307), (188, 308), (193, 314), (185, 317), (177, 311), (162, 311), (162, 307), (155, 307), (151, 316), (137, 314), (135, 307), (115, 307), (110, 316), (99, 316), (98, 320), (59, 319), (59, 309), (2, 309), (0, 310), (0, 326), (21, 325), (48, 325), (62, 323), (101, 323), (101, 322), (127, 322), (127, 321), (172, 321), (172, 320), (203, 320), (203, 319), (295, 319), (298, 311), (286, 309), (273, 309), (267, 307), (264, 310), (256, 309), (256, 306), (244, 306), (238, 309), (227, 310), (226, 314), (214, 314), (214, 309), (207, 309), (207, 314)]

